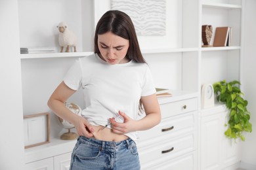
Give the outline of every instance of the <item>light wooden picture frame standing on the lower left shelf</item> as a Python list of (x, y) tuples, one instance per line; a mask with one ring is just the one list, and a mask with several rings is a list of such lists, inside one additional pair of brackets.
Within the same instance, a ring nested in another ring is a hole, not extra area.
[(49, 112), (26, 115), (23, 121), (25, 148), (50, 142)]

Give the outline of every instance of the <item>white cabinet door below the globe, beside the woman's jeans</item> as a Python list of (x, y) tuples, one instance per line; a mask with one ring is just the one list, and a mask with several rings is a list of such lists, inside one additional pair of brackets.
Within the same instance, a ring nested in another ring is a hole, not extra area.
[(71, 154), (72, 152), (59, 156), (54, 156), (54, 170), (70, 169)]

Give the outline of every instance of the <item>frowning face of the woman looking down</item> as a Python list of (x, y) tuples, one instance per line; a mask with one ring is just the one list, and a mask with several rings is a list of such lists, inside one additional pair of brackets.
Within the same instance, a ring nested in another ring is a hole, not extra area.
[(100, 57), (112, 65), (129, 61), (129, 59), (125, 58), (128, 48), (129, 40), (123, 39), (111, 32), (98, 35)]

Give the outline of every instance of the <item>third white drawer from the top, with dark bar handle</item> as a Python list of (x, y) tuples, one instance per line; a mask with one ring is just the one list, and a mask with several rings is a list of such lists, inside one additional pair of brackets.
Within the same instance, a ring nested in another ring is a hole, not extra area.
[(174, 158), (182, 154), (191, 152), (195, 147), (194, 133), (187, 134), (178, 139), (159, 138), (158, 143), (145, 147), (138, 147), (140, 163), (150, 163), (151, 161), (165, 158)]

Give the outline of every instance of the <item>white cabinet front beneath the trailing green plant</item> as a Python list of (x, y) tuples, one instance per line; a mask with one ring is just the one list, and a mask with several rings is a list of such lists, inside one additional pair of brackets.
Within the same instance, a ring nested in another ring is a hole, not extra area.
[(227, 117), (228, 110), (223, 105), (201, 112), (200, 166), (203, 170), (227, 169), (240, 161), (240, 140), (235, 143), (224, 135)]

